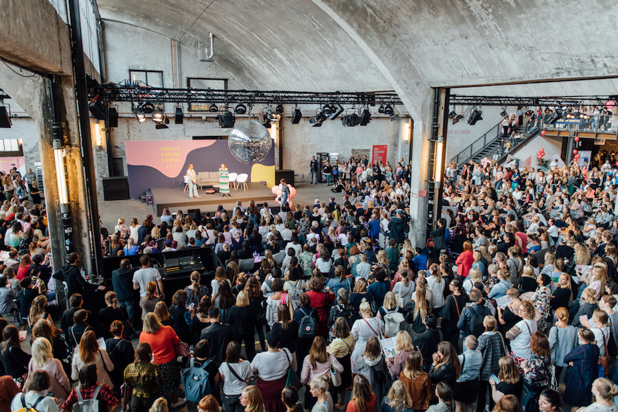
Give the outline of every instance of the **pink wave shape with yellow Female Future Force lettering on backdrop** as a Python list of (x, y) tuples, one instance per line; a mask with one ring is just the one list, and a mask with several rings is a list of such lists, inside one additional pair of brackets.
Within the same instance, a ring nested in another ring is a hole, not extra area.
[(126, 163), (150, 166), (168, 177), (185, 174), (185, 160), (190, 152), (206, 148), (216, 140), (126, 141)]

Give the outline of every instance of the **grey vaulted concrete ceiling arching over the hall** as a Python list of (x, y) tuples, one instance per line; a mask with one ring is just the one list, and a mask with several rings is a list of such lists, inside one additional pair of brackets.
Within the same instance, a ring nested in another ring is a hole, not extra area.
[[(103, 19), (170, 38), (192, 25), (187, 44), (213, 32), (216, 63), (247, 88), (396, 90), (411, 108), (429, 87), (618, 76), (612, 0), (215, 0), (203, 12), (210, 2), (98, 7)], [(617, 92), (615, 80), (602, 82), (595, 92)], [(571, 95), (593, 94), (589, 82), (570, 84)], [(517, 89), (502, 91), (534, 91)]]

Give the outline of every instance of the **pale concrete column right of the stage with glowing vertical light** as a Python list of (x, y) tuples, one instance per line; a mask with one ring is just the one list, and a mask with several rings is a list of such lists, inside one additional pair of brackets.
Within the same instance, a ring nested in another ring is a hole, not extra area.
[(420, 113), (420, 119), (414, 120), (411, 153), (410, 182), (410, 233), (408, 238), (413, 247), (424, 247), (426, 241), (427, 198), (420, 197), (419, 191), (427, 190), (429, 165), (429, 137), (431, 135), (431, 108), (433, 104), (433, 89), (423, 89), (420, 106), (415, 112)]

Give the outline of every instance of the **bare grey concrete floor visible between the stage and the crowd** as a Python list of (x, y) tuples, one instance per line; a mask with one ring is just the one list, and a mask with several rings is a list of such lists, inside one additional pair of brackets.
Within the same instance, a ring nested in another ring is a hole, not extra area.
[[(325, 184), (320, 185), (308, 185), (306, 183), (297, 183), (296, 187), (296, 196), (294, 196), (292, 202), (294, 205), (300, 203), (300, 205), (314, 205), (315, 199), (319, 199), (320, 201), (325, 201), (329, 203), (329, 199), (331, 196), (334, 196), (335, 201), (339, 204), (343, 203), (343, 198), (341, 193), (332, 193), (330, 189), (332, 186), (326, 186)], [(234, 191), (231, 191), (232, 199), (234, 196)], [(118, 218), (124, 218), (126, 225), (130, 223), (132, 218), (137, 218), (138, 222), (141, 222), (148, 216), (148, 214), (155, 214), (155, 209), (152, 205), (146, 205), (146, 203), (141, 203), (139, 200), (128, 200), (128, 201), (104, 201), (103, 196), (98, 196), (98, 204), (99, 204), (99, 216), (103, 222), (103, 227), (106, 227), (108, 231), (113, 231), (114, 226), (117, 224)], [(273, 201), (269, 201), (268, 205), (270, 206), (278, 206), (275, 203), (275, 196), (273, 196)], [(159, 224), (161, 222), (160, 218), (155, 217), (155, 222)]]

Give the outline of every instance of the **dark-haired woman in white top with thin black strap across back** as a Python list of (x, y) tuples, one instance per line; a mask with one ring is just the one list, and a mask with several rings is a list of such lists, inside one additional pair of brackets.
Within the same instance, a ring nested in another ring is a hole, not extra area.
[(225, 350), (225, 362), (219, 367), (223, 381), (223, 406), (226, 412), (242, 412), (240, 393), (247, 387), (253, 371), (251, 363), (240, 358), (240, 344), (231, 341)]

